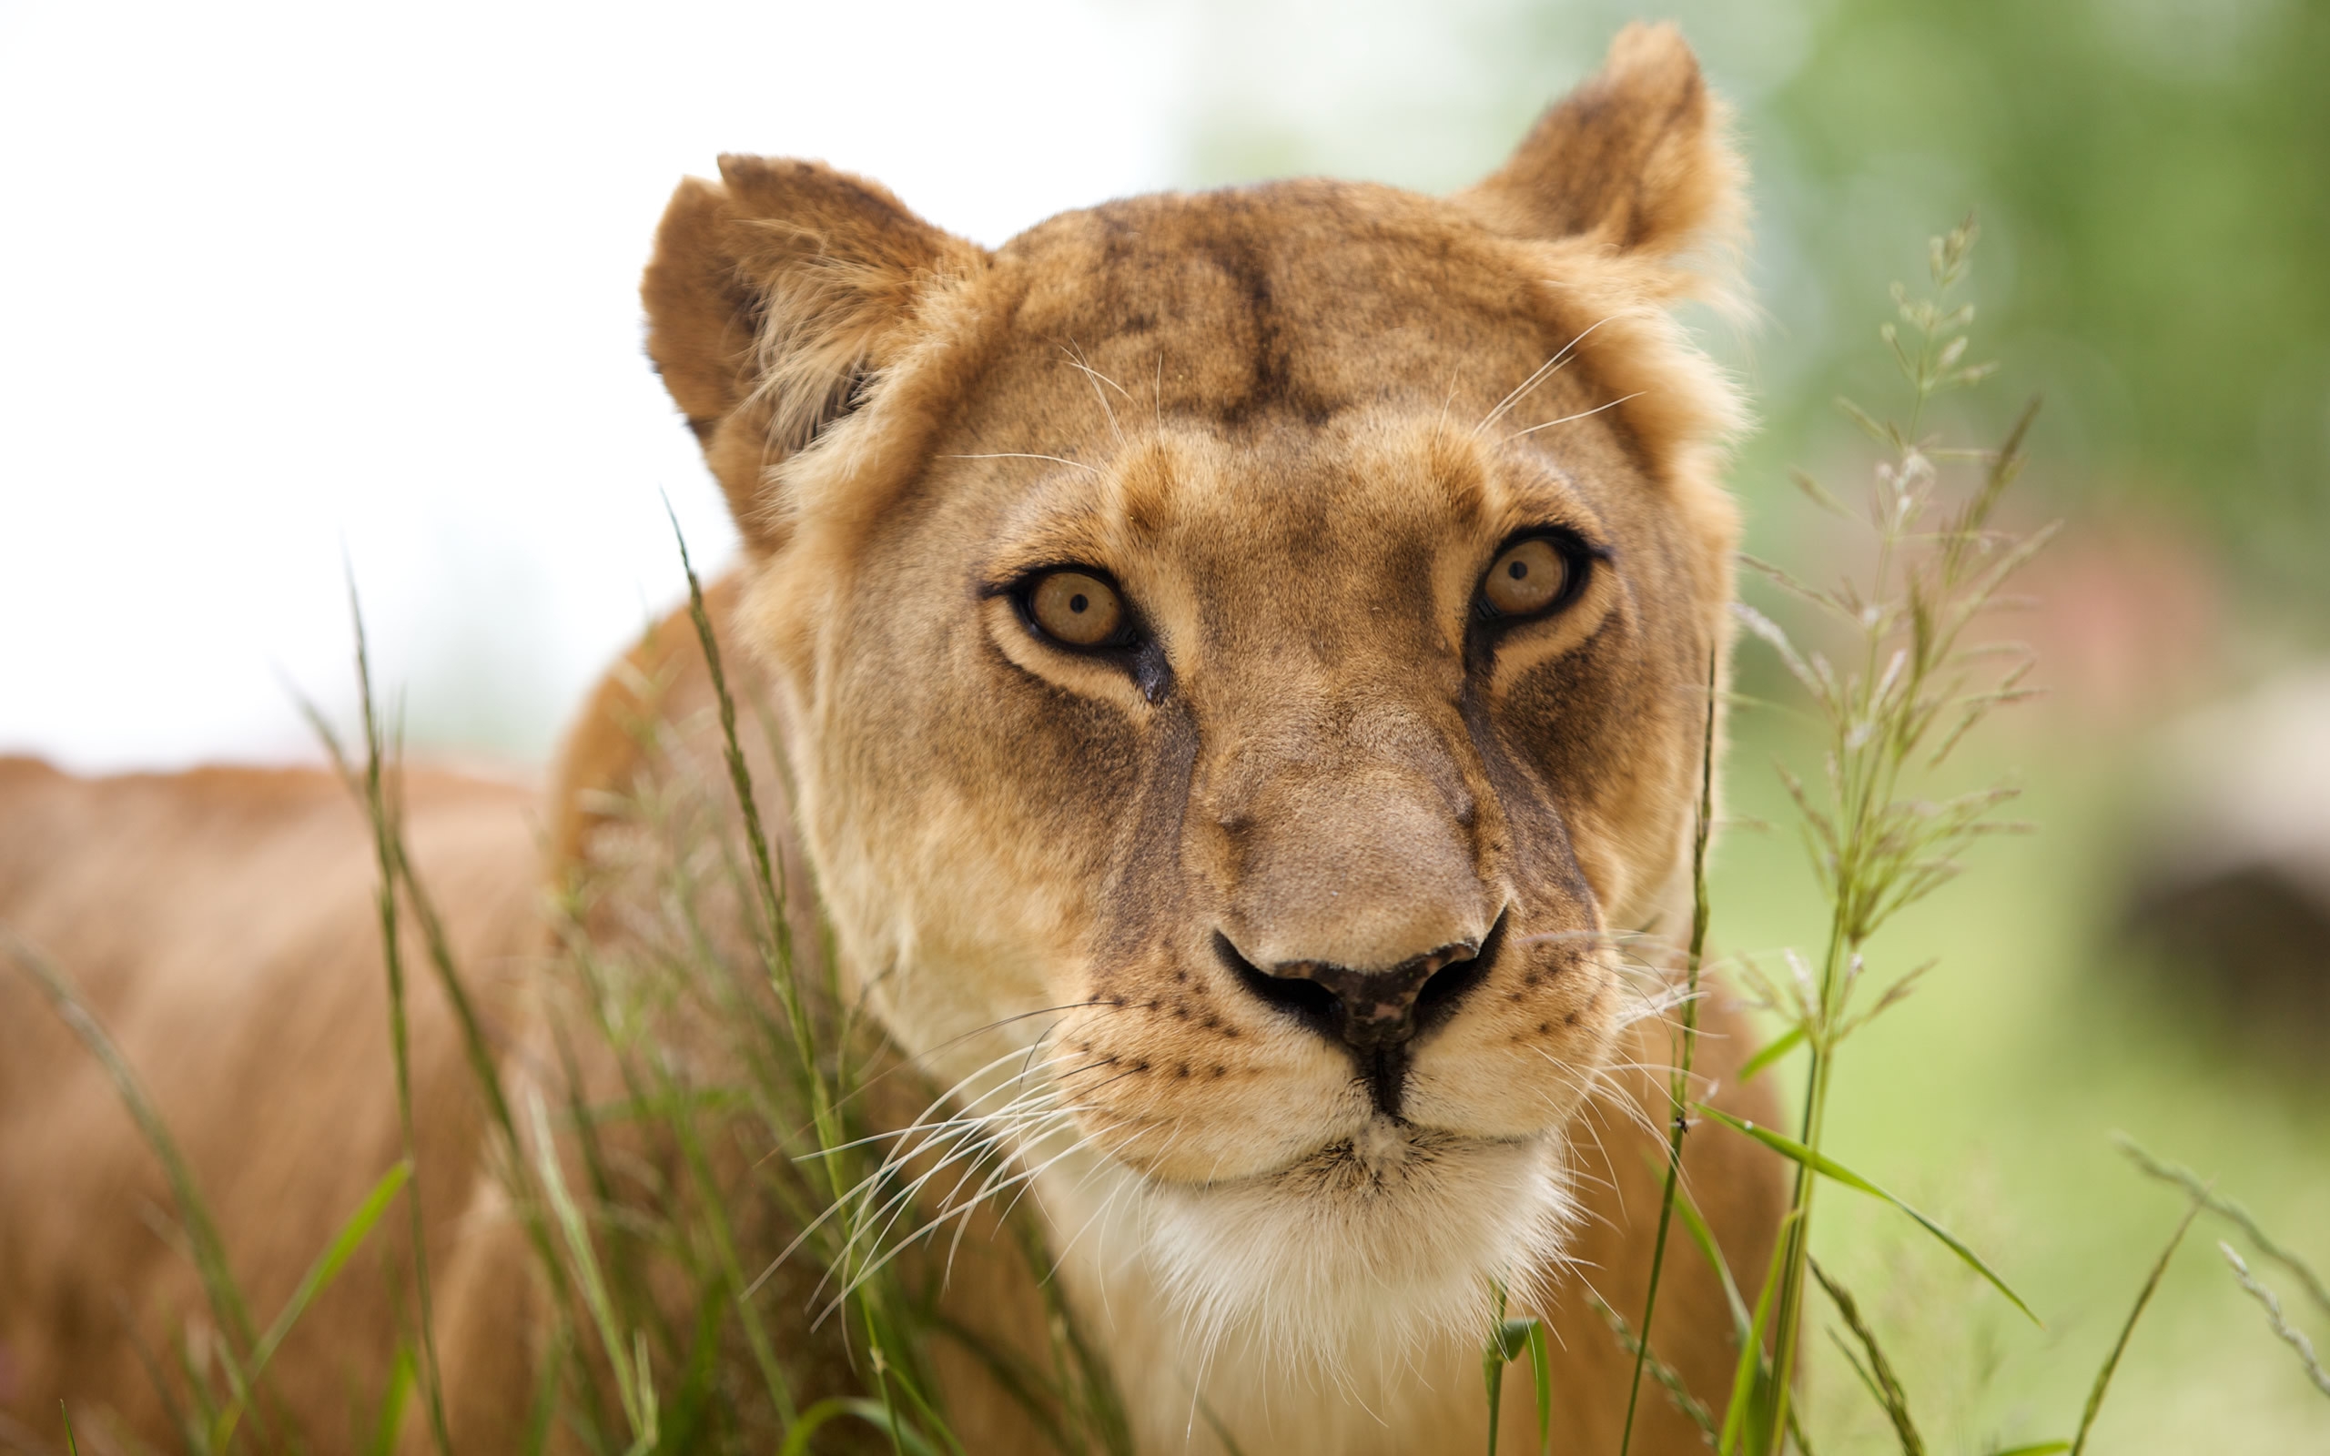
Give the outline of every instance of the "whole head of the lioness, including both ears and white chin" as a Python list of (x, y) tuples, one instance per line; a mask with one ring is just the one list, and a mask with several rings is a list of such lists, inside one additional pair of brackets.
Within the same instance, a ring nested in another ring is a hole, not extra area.
[(1552, 1253), (1724, 650), (1734, 405), (1664, 310), (1734, 212), (1645, 28), (1447, 198), (995, 252), (818, 163), (671, 200), (650, 352), (843, 960), (1214, 1333), (1470, 1321)]

